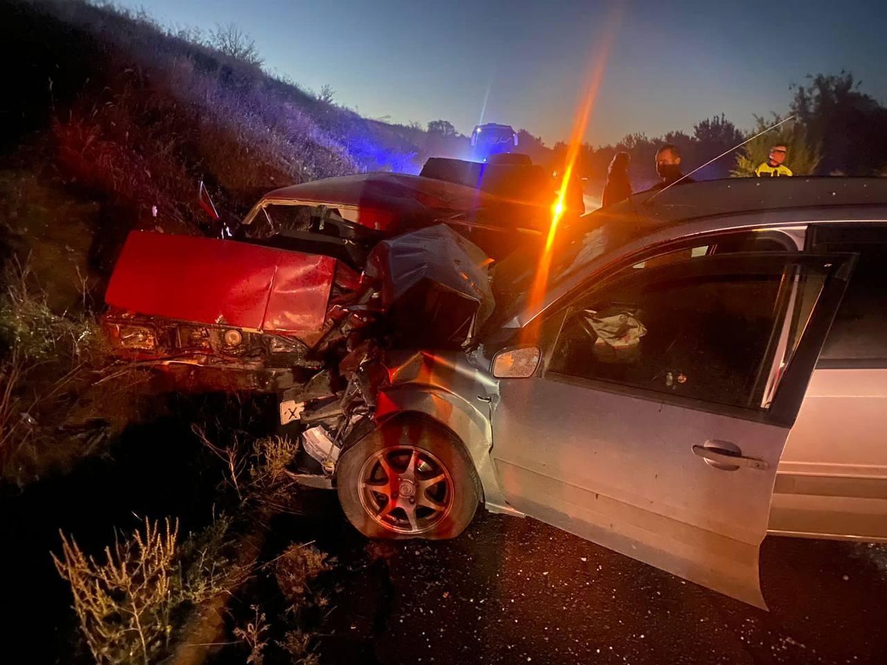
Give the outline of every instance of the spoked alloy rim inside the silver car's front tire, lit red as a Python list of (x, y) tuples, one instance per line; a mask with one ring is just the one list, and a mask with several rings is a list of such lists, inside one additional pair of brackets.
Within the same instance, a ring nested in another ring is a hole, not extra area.
[(382, 527), (416, 535), (435, 528), (452, 506), (450, 472), (428, 450), (394, 446), (364, 462), (358, 480), (360, 503)]

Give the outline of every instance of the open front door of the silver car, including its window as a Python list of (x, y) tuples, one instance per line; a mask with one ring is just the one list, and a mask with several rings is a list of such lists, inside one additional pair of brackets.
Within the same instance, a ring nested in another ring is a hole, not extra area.
[(492, 457), (532, 517), (754, 606), (782, 447), (852, 255), (647, 262), (565, 301), (503, 379)]

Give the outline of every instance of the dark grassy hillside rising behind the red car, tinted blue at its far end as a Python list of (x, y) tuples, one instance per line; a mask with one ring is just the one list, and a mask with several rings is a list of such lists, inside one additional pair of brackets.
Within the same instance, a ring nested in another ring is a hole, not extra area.
[(447, 149), (281, 81), (199, 31), (110, 6), (0, 4), (0, 55), (14, 91), (0, 99), (0, 468), (18, 484), (69, 469), (138, 419), (138, 382), (99, 384), (92, 372), (94, 315), (130, 230), (216, 235), (200, 181), (239, 216), (283, 185), (416, 171), (427, 146)]

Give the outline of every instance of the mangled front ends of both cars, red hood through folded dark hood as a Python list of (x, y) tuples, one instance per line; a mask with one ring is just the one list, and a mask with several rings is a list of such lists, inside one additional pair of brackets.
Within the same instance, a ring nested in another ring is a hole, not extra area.
[(493, 309), (491, 259), (449, 226), (351, 232), (340, 212), (312, 207), (307, 230), (265, 238), (133, 232), (102, 321), (121, 362), (173, 389), (278, 395), (302, 439), (294, 477), (314, 486), (375, 426), (391, 349), (465, 348)]

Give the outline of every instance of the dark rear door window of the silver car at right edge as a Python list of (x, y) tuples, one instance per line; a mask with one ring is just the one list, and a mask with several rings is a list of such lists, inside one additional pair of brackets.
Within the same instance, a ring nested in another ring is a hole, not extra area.
[(822, 229), (814, 247), (859, 254), (820, 358), (887, 359), (887, 228)]

